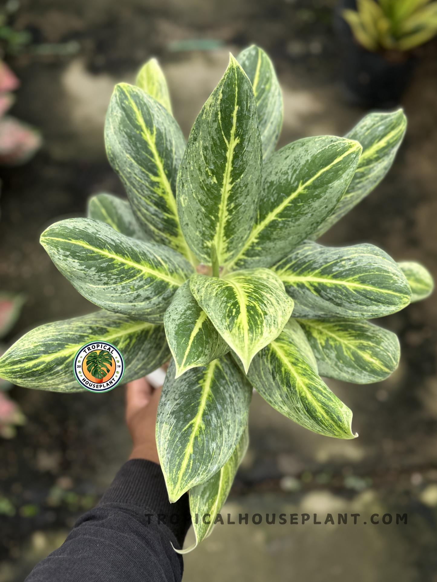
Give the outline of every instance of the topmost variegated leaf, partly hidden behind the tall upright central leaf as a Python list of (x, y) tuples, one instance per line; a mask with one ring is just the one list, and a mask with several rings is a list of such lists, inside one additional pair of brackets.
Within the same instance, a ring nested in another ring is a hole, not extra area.
[(273, 154), (281, 133), (284, 117), (282, 93), (272, 61), (256, 45), (241, 51), (237, 56), (244, 72), (249, 77), (255, 95), (258, 126), (261, 134), (263, 159)]

